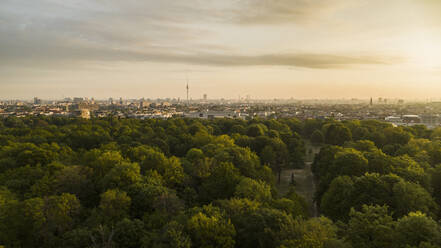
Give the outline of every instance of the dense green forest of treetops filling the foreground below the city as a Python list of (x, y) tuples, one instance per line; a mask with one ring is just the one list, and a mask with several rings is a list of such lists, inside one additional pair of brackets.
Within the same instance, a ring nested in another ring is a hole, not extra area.
[[(313, 217), (278, 190), (321, 147)], [(441, 247), (441, 128), (0, 119), (0, 247)]]

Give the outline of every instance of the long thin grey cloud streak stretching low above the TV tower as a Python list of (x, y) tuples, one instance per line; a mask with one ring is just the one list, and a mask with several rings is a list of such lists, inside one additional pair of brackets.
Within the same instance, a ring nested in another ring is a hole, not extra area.
[(99, 46), (48, 42), (38, 47), (16, 44), (14, 49), (2, 53), (0, 63), (48, 63), (52, 66), (82, 62), (156, 62), (206, 66), (294, 66), (314, 69), (347, 68), (355, 65), (395, 64), (402, 59), (364, 55), (338, 55), (315, 53), (241, 55), (234, 53), (176, 52), (150, 48), (134, 51)]

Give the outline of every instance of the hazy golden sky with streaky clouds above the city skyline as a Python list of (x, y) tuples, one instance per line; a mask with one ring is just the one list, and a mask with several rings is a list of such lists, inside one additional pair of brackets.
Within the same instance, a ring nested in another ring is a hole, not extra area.
[(0, 98), (441, 98), (441, 0), (1, 0)]

